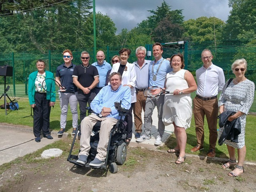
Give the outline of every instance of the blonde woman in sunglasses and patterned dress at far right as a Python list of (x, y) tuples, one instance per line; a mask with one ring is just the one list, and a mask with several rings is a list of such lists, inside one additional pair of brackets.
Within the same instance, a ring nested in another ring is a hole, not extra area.
[[(230, 82), (227, 87), (228, 81), (223, 87), (222, 93), (219, 98), (220, 114), (224, 111), (235, 111), (236, 113), (228, 118), (228, 121), (232, 121), (236, 118), (240, 118), (241, 133), (238, 135), (238, 143), (225, 140), (224, 144), (228, 147), (229, 160), (224, 165), (223, 169), (227, 169), (231, 166), (236, 168), (228, 173), (228, 176), (236, 177), (244, 172), (244, 159), (246, 154), (246, 147), (244, 142), (245, 137), (245, 124), (246, 114), (248, 114), (252, 102), (254, 100), (254, 82), (248, 80), (244, 74), (247, 69), (247, 62), (245, 59), (236, 60), (232, 66), (232, 71), (236, 75), (236, 78)], [(219, 136), (222, 134), (224, 128), (220, 128)], [(238, 162), (236, 164), (236, 152), (238, 153)]]

